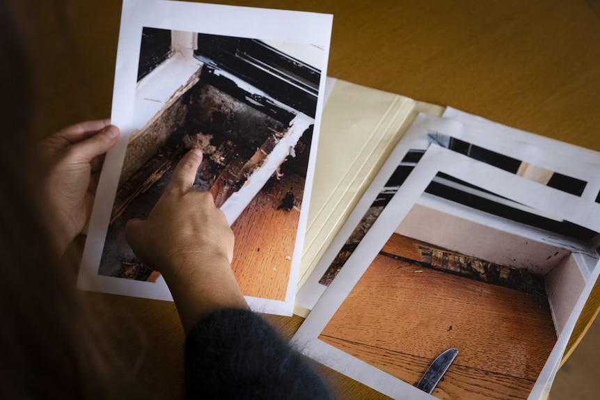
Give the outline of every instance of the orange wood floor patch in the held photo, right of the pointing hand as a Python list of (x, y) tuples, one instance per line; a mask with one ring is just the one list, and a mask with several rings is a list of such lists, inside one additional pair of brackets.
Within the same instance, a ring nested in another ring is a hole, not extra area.
[[(285, 300), (303, 187), (298, 175), (271, 178), (232, 225), (232, 269), (244, 295)], [(298, 208), (277, 209), (287, 191), (294, 193)]]

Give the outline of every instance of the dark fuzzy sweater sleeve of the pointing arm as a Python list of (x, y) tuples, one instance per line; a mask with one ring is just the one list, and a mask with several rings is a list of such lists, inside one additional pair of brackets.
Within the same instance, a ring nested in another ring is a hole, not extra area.
[(187, 399), (329, 399), (313, 367), (267, 321), (221, 310), (199, 321), (185, 343)]

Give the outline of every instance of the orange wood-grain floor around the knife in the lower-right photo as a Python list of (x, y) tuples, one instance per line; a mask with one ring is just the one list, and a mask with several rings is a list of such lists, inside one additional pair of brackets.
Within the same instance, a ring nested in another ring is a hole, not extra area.
[(457, 347), (461, 372), (448, 371), (442, 399), (526, 398), (556, 341), (550, 310), (528, 294), (383, 255), (320, 338), (409, 383)]

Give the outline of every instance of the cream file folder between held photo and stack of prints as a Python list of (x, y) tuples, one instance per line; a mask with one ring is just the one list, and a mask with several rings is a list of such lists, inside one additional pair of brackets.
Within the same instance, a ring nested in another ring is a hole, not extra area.
[(328, 77), (298, 290), (418, 113), (443, 106)]

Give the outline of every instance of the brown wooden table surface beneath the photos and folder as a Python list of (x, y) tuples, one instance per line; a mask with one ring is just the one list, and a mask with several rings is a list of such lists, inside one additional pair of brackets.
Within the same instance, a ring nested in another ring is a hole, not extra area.
[[(119, 0), (22, 1), (35, 61), (32, 118), (42, 137), (110, 114)], [(332, 13), (328, 75), (413, 99), (450, 105), (519, 129), (600, 151), (598, 0), (230, 1)], [(172, 303), (88, 294), (127, 357), (164, 399), (182, 398), (183, 333)], [(600, 287), (571, 337), (574, 349), (597, 315)], [(267, 319), (292, 335), (302, 319)], [(123, 328), (123, 321), (127, 320)], [(141, 337), (145, 339), (141, 339)], [(134, 345), (135, 344), (135, 345)], [(385, 398), (326, 371), (340, 398)]]

